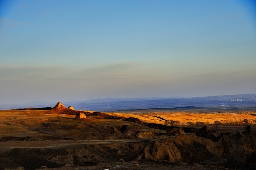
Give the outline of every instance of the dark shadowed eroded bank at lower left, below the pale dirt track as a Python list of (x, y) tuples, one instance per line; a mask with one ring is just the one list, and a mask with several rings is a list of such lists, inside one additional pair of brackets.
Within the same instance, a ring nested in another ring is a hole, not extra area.
[(101, 145), (68, 145), (57, 148), (15, 148), (0, 154), (0, 169), (23, 166), (25, 169), (58, 168), (69, 165), (90, 166), (98, 163), (133, 160), (145, 147), (144, 142)]

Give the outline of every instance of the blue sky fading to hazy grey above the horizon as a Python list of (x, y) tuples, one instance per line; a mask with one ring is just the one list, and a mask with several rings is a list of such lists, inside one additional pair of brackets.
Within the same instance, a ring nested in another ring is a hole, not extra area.
[(255, 91), (253, 0), (0, 0), (0, 104)]

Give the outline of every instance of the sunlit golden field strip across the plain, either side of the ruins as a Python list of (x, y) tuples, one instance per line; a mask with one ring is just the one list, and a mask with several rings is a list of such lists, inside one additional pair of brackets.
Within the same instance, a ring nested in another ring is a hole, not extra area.
[[(20, 121), (20, 117), (26, 120), (31, 118), (40, 118), (42, 117), (51, 117), (56, 118), (57, 115), (49, 114), (48, 111), (1, 111), (0, 112), (1, 121), (12, 121), (13, 117), (17, 117), (17, 121)], [(109, 115), (116, 115), (118, 117), (135, 117), (139, 118), (142, 122), (148, 123), (159, 123), (164, 124), (164, 121), (157, 118), (161, 117), (166, 120), (179, 121), (180, 124), (186, 124), (187, 122), (204, 122), (213, 124), (214, 121), (220, 121), (221, 123), (229, 122), (242, 122), (244, 119), (249, 119), (251, 123), (256, 123), (256, 114), (246, 113), (246, 114), (237, 114), (237, 113), (199, 113), (199, 112), (152, 112), (152, 113), (138, 113), (138, 114), (124, 114), (124, 113), (108, 113)], [(61, 115), (61, 114), (60, 114)], [(63, 115), (65, 117), (74, 117), (73, 115)], [(157, 116), (157, 117), (154, 117)]]

